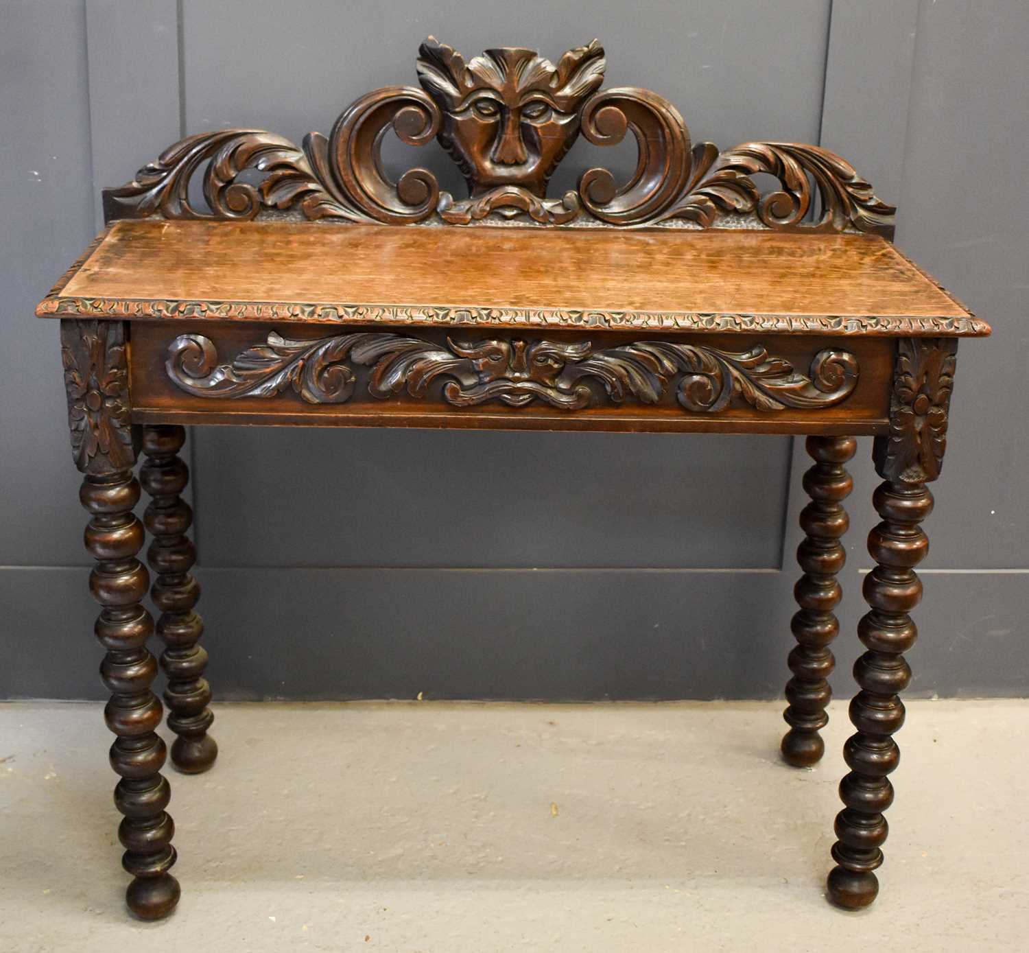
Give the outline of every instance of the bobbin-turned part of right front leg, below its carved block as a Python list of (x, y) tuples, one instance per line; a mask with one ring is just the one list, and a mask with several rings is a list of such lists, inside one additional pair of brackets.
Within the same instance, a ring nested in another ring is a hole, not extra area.
[(903, 725), (898, 693), (911, 680), (902, 654), (918, 635), (908, 613), (922, 597), (914, 567), (929, 549), (919, 524), (932, 510), (932, 494), (920, 483), (886, 482), (874, 501), (883, 522), (868, 534), (868, 553), (878, 565), (864, 579), (872, 610), (858, 626), (868, 650), (854, 665), (861, 691), (851, 702), (850, 720), (857, 733), (844, 747), (850, 773), (840, 784), (846, 807), (837, 815), (832, 858), (838, 866), (828, 877), (829, 897), (849, 910), (867, 907), (879, 892), (873, 871), (883, 862), (881, 847), (889, 831), (883, 812), (893, 803), (887, 775), (900, 760), (891, 736)]

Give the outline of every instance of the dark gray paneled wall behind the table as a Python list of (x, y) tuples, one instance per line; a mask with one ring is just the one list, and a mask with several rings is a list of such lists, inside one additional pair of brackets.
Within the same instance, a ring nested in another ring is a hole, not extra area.
[[(1024, 695), (1029, 69), (1020, 0), (0, 5), (0, 697), (98, 698), (57, 327), (32, 307), (99, 189), (181, 134), (299, 140), (414, 81), (426, 33), (657, 90), (695, 141), (821, 142), (900, 206), (898, 244), (991, 321), (962, 346), (915, 694)], [(589, 161), (580, 143), (562, 175)], [(400, 147), (394, 150), (400, 155)], [(624, 164), (632, 162), (625, 152)], [(453, 181), (441, 154), (418, 162)], [(560, 187), (562, 183), (557, 183)], [(201, 609), (220, 698), (760, 698), (781, 692), (803, 442), (197, 429)], [(795, 444), (795, 446), (794, 446)], [(792, 471), (792, 480), (790, 473)], [(851, 693), (874, 514), (859, 442), (838, 642)], [(289, 493), (283, 492), (285, 488)]]

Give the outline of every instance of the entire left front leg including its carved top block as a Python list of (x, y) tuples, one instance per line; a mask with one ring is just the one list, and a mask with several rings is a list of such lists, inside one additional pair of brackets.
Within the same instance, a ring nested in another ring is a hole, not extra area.
[(165, 810), (171, 798), (161, 775), (165, 743), (154, 734), (161, 702), (150, 683), (157, 664), (146, 648), (153, 620), (140, 605), (149, 578), (136, 558), (144, 531), (133, 514), (139, 429), (131, 423), (125, 333), (119, 321), (62, 320), (61, 359), (72, 455), (85, 474), (79, 493), (91, 515), (85, 548), (97, 561), (90, 589), (101, 605), (97, 638), (107, 649), (100, 667), (111, 693), (104, 717), (117, 736), (110, 762), (121, 776), (114, 788), (114, 804), (125, 815), (121, 864), (134, 877), (126, 901), (136, 916), (156, 920), (175, 909), (179, 884), (168, 873), (175, 863), (175, 825)]

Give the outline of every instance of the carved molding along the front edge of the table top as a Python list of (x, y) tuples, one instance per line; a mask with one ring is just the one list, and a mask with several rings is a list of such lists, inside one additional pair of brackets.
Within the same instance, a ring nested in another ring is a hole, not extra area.
[(297, 304), (286, 302), (208, 302), (65, 297), (60, 284), (37, 307), (40, 317), (245, 321), (324, 321), (414, 326), (582, 327), (598, 330), (780, 332), (862, 334), (865, 337), (984, 337), (990, 326), (975, 317), (875, 315), (707, 314), (701, 312), (622, 312), (434, 305)]

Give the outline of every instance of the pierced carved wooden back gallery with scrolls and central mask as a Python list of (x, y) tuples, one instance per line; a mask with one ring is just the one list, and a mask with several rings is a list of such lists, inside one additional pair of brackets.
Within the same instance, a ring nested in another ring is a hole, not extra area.
[[(468, 224), (492, 214), (544, 224), (640, 225), (673, 219), (707, 228), (745, 217), (759, 226), (859, 231), (892, 237), (892, 206), (838, 155), (818, 146), (750, 142), (726, 152), (690, 148), (682, 116), (667, 100), (634, 87), (598, 92), (605, 69), (597, 40), (557, 65), (530, 49), (498, 47), (465, 62), (429, 37), (419, 48), (424, 87), (387, 86), (349, 106), (328, 139), (308, 135), (300, 148), (260, 130), (224, 130), (183, 139), (134, 181), (105, 189), (108, 220), (248, 219), (298, 209), (308, 218), (404, 222), (430, 218)], [(397, 182), (383, 172), (381, 143), (392, 129), (411, 145), (437, 138), (457, 163), (467, 199), (440, 192), (425, 169)], [(546, 184), (579, 132), (595, 145), (636, 140), (636, 170), (619, 185), (603, 168), (586, 172), (577, 191), (547, 198)], [(206, 167), (205, 167), (206, 164)], [(208, 210), (189, 200), (203, 173)], [(259, 184), (242, 177), (263, 174)], [(762, 195), (750, 176), (779, 189)], [(818, 199), (816, 220), (807, 221)]]

